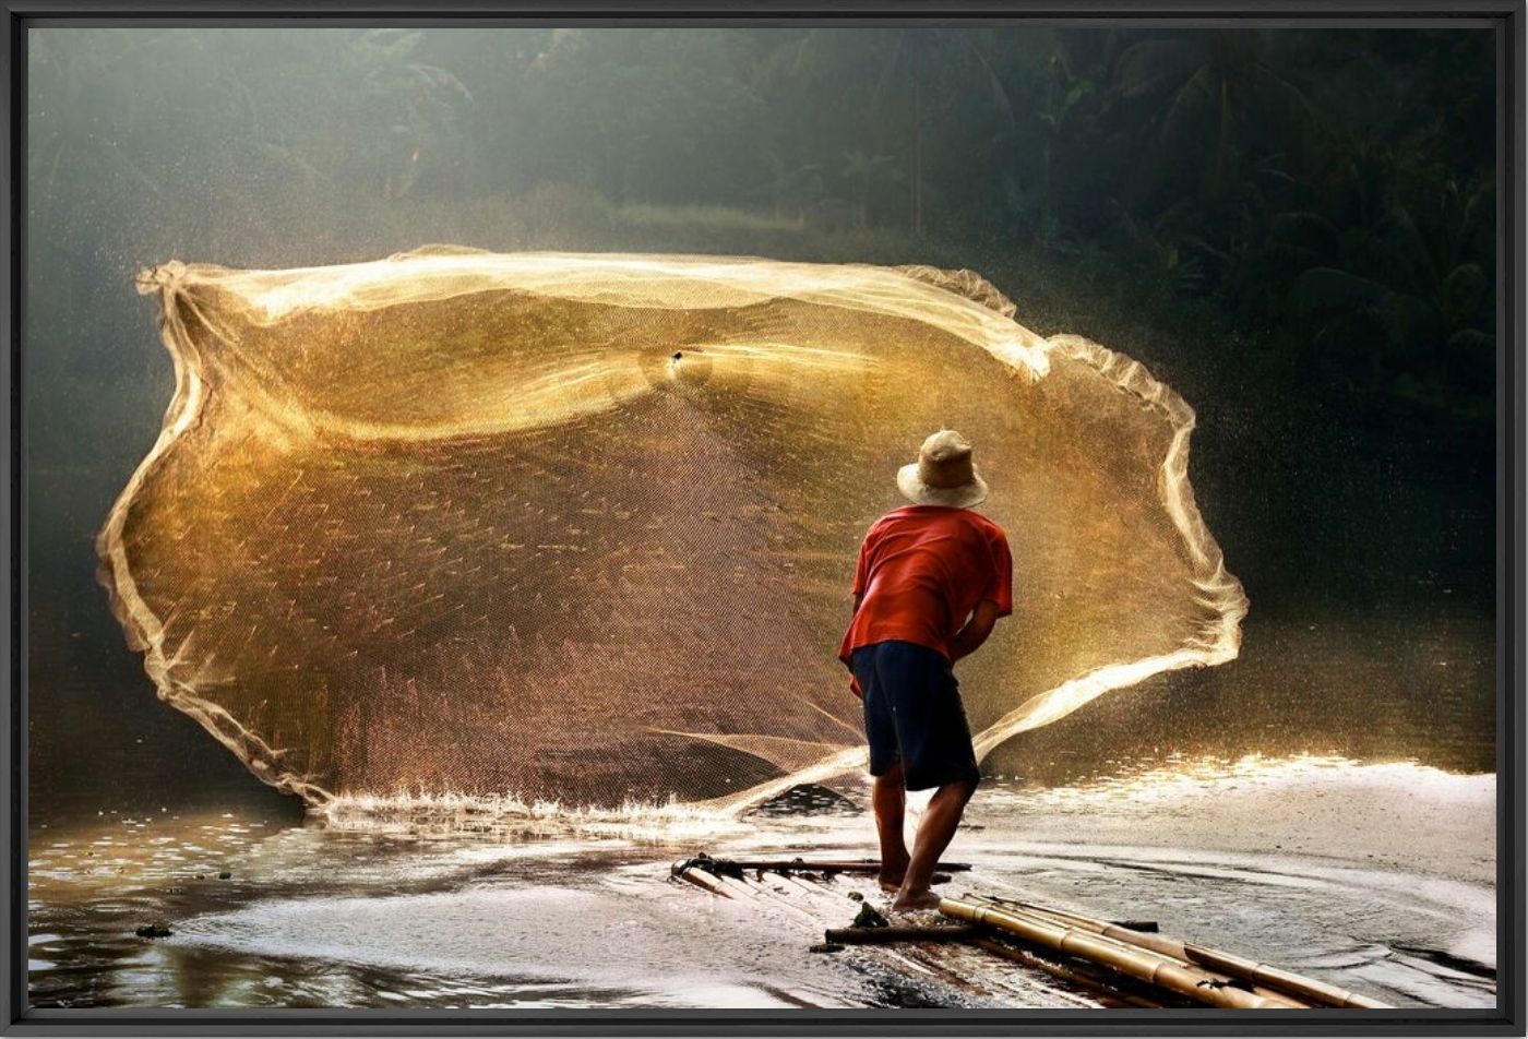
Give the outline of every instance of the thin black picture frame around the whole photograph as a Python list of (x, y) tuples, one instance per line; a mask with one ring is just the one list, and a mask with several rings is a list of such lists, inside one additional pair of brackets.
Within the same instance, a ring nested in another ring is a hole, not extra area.
[[(9, 567), (0, 614), (5, 646), (5, 738), (0, 799), (6, 807), (0, 879), (5, 886), (5, 972), (0, 1031), (5, 1034), (1525, 1034), (1523, 917), (1523, 43), (1522, 0), (0, 0), (5, 34), (3, 209), (5, 471), (0, 513)], [(26, 98), (24, 32), (49, 24), (1028, 24), (1172, 26), (1491, 26), (1497, 46), (1497, 976), (1496, 1010), (1343, 1010), (1254, 1015), (1241, 1011), (1079, 1013), (1076, 1010), (29, 1010), (26, 934), (28, 790), (28, 530), (26, 425), (21, 387), (28, 376), (21, 321), (24, 298)]]

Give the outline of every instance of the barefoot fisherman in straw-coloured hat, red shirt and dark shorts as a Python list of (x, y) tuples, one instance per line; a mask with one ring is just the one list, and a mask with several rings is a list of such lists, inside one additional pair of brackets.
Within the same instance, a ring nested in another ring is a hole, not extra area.
[[(918, 460), (897, 472), (897, 489), (912, 504), (865, 535), (839, 659), (865, 707), (880, 886), (903, 911), (938, 906), (934, 866), (981, 779), (953, 665), (1013, 611), (1013, 556), (1002, 527), (972, 512), (987, 483), (953, 429), (923, 442)], [(929, 788), (909, 856), (906, 790)]]

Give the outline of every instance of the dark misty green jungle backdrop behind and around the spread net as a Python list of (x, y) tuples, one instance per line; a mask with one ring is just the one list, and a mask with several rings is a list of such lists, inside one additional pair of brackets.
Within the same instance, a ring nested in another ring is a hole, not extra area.
[(238, 772), (148, 700), (92, 582), (170, 399), (131, 287), (170, 258), (451, 241), (972, 267), (1021, 322), (1198, 408), (1195, 487), (1248, 623), (1490, 610), (1484, 31), (46, 29), (29, 89), (43, 781), (86, 782), (124, 732), (173, 747), (163, 769)]

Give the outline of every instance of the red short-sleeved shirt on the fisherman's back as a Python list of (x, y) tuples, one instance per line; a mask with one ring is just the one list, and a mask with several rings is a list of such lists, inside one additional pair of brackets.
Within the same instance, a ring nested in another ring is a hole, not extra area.
[(1002, 527), (979, 512), (953, 506), (903, 506), (874, 524), (860, 545), (854, 594), (865, 594), (839, 660), (860, 646), (897, 639), (937, 649), (949, 642), (983, 599), (998, 616), (1013, 613), (1013, 555)]

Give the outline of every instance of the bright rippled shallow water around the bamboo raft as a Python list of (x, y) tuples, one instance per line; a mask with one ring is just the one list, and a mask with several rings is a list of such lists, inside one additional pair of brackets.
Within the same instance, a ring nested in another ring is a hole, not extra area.
[[(863, 790), (850, 790), (863, 804)], [(714, 854), (872, 854), (843, 804), (535, 819), (102, 814), (31, 834), (37, 1007), (1086, 1005), (961, 953), (814, 955), (850, 891), (669, 879)], [(978, 793), (944, 891), (1012, 892), (1326, 978), (1397, 1005), (1494, 1004), (1494, 778), (1342, 758), (1178, 759)], [(422, 825), (425, 824), (425, 825)], [(468, 830), (463, 833), (463, 830)], [(226, 879), (220, 879), (226, 872)], [(163, 921), (167, 938), (134, 929)]]

